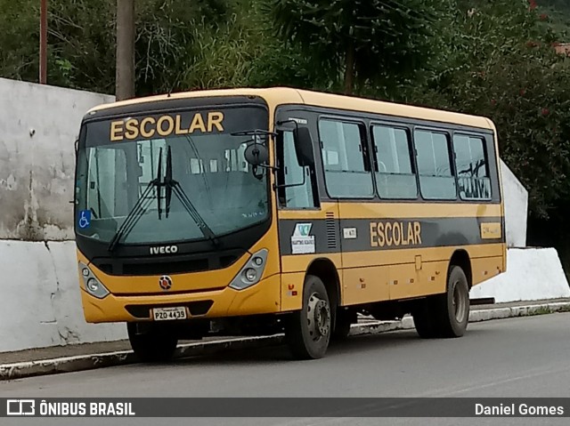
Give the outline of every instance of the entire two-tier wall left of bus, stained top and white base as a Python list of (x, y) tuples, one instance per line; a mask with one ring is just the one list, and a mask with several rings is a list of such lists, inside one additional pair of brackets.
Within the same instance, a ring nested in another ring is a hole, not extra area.
[(0, 78), (0, 352), (126, 338), (85, 323), (69, 241), (81, 118), (113, 100)]

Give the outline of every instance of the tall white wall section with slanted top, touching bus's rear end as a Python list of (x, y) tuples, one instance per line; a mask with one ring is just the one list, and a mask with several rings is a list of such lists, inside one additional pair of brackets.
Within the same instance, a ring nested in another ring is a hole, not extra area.
[(507, 245), (509, 247), (525, 247), (528, 191), (502, 160), (501, 180), (505, 203)]

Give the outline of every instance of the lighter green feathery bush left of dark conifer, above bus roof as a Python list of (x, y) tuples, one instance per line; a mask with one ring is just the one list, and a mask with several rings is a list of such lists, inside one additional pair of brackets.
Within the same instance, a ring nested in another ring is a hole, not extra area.
[(314, 88), (306, 58), (273, 34), (265, 0), (234, 0), (229, 19), (212, 29), (200, 22), (179, 89), (292, 85)]

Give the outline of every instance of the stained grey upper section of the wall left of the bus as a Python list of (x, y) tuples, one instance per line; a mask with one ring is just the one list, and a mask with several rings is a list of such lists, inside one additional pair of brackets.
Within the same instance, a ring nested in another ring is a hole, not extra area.
[(74, 142), (85, 112), (112, 100), (0, 78), (0, 239), (73, 238)]

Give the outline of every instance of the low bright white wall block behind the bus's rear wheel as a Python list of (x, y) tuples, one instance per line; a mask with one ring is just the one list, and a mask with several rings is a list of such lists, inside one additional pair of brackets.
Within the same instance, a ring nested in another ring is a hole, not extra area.
[(553, 248), (511, 248), (507, 272), (476, 285), (473, 299), (493, 297), (496, 303), (570, 297), (570, 287)]

